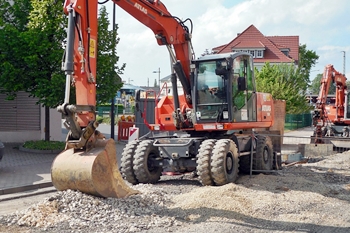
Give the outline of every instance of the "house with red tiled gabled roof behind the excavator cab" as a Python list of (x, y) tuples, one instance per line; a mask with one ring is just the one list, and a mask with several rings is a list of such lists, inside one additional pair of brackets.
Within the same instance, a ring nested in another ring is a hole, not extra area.
[(270, 64), (299, 62), (299, 36), (264, 36), (254, 25), (237, 34), (231, 42), (212, 49), (214, 53), (249, 52), (260, 69)]

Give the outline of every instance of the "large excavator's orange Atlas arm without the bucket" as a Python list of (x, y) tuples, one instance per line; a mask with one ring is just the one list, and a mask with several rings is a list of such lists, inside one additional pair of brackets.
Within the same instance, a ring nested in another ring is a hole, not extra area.
[[(190, 64), (193, 58), (191, 32), (185, 22), (172, 16), (158, 0), (114, 0), (116, 5), (149, 27), (159, 45), (168, 48), (175, 71), (180, 79), (186, 100), (191, 105)], [(63, 69), (66, 74), (66, 96), (59, 111), (67, 117), (70, 137), (79, 140), (81, 128), (95, 120), (96, 59), (97, 59), (97, 10), (98, 1), (66, 0), (64, 11), (68, 15), (68, 36)], [(189, 20), (189, 19), (188, 19)], [(189, 20), (190, 21), (190, 20)], [(76, 89), (76, 105), (69, 105), (70, 86)], [(77, 117), (77, 120), (75, 120)], [(90, 135), (84, 138), (90, 137)], [(87, 140), (81, 140), (80, 147)]]

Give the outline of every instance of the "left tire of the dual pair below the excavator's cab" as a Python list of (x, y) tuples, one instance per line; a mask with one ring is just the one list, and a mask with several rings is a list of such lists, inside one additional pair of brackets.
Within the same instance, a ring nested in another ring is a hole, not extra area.
[(210, 160), (216, 140), (208, 139), (201, 143), (197, 154), (197, 175), (202, 185), (213, 185)]

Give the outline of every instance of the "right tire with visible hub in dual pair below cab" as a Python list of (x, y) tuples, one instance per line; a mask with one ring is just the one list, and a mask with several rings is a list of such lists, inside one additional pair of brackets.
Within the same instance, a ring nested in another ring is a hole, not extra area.
[(215, 143), (211, 157), (211, 175), (216, 185), (235, 182), (238, 178), (239, 158), (237, 145), (230, 139)]

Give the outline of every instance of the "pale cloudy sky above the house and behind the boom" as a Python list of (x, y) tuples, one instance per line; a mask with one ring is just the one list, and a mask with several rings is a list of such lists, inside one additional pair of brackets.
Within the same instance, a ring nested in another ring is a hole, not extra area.
[[(208, 49), (227, 44), (237, 33), (254, 25), (265, 36), (299, 36), (299, 43), (319, 55), (310, 79), (332, 64), (350, 77), (349, 0), (163, 0), (168, 11), (193, 22), (192, 45), (196, 58)], [(113, 3), (106, 4), (112, 22)], [(153, 32), (116, 6), (120, 42), (119, 66), (126, 63), (123, 81), (153, 86), (158, 70), (171, 74), (169, 54)], [(187, 26), (190, 26), (187, 24)], [(345, 63), (344, 63), (345, 55)]]

